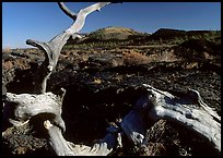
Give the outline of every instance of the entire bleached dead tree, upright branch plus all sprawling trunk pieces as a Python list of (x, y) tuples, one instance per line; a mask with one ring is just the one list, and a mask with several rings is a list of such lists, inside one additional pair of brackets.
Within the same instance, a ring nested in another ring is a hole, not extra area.
[[(48, 42), (26, 40), (27, 45), (42, 49), (46, 58), (36, 71), (34, 94), (15, 95), (7, 93), (7, 102), (3, 106), (4, 119), (9, 119), (14, 125), (20, 125), (37, 114), (54, 114), (55, 117), (51, 120), (46, 119), (43, 125), (48, 132), (47, 139), (58, 156), (109, 155), (117, 146), (122, 146), (122, 134), (126, 134), (136, 146), (144, 145), (146, 144), (144, 138), (146, 131), (144, 127), (144, 124), (146, 124), (145, 117), (152, 120), (171, 119), (178, 122), (206, 137), (221, 151), (221, 118), (203, 102), (198, 92), (190, 89), (187, 97), (177, 97), (146, 84), (144, 86), (148, 94), (139, 98), (136, 107), (124, 117), (120, 127), (110, 126), (107, 129), (108, 133), (103, 139), (92, 146), (85, 146), (75, 145), (63, 138), (62, 132), (66, 130), (66, 124), (61, 118), (61, 108), (66, 90), (61, 89), (61, 93), (57, 95), (50, 92), (46, 93), (47, 80), (57, 65), (60, 51), (67, 40), (70, 37), (81, 38), (79, 31), (83, 27), (85, 17), (109, 3), (98, 2), (74, 13), (64, 3), (59, 2), (60, 9), (74, 22), (68, 29)], [(9, 112), (10, 110), (12, 112)]]

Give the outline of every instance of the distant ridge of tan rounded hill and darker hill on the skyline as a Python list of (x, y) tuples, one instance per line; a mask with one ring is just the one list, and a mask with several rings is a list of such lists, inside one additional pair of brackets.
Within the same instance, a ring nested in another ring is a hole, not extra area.
[[(215, 35), (214, 35), (215, 34)], [(221, 37), (221, 31), (183, 31), (174, 28), (160, 28), (153, 34), (140, 33), (132, 28), (120, 26), (109, 26), (99, 28), (94, 32), (83, 34), (85, 37), (79, 42), (95, 42), (95, 41), (110, 41), (110, 40), (133, 40), (137, 42), (146, 42), (151, 40), (175, 40), (175, 39), (193, 39), (207, 37)], [(214, 36), (213, 36), (214, 35)], [(216, 40), (220, 40), (216, 38)], [(75, 41), (70, 40), (69, 44)]]

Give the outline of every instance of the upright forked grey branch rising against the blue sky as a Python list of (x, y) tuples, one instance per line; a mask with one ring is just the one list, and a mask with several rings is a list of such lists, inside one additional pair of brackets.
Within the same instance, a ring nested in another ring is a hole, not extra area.
[(34, 77), (34, 93), (35, 94), (44, 94), (46, 93), (47, 80), (50, 76), (52, 70), (56, 68), (60, 51), (62, 47), (67, 44), (67, 40), (72, 36), (72, 38), (81, 36), (78, 33), (81, 31), (85, 23), (85, 17), (94, 12), (101, 10), (103, 7), (109, 4), (110, 2), (98, 2), (92, 4), (85, 9), (82, 9), (75, 14), (74, 12), (70, 11), (64, 3), (59, 2), (59, 8), (70, 16), (74, 22), (73, 24), (66, 29), (64, 32), (60, 33), (59, 35), (55, 36), (48, 42), (36, 41), (32, 39), (27, 39), (26, 44), (37, 47), (44, 51), (46, 58), (43, 64), (38, 68), (35, 73)]

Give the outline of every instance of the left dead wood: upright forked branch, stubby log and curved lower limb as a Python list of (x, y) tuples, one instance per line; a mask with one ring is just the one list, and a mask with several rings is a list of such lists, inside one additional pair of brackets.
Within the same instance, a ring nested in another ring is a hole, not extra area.
[[(69, 150), (68, 146), (70, 145), (64, 143), (61, 134), (61, 132), (66, 130), (66, 124), (61, 118), (61, 105), (66, 90), (61, 89), (59, 95), (55, 95), (52, 93), (46, 93), (46, 87), (47, 80), (56, 68), (60, 51), (68, 39), (81, 38), (79, 32), (84, 26), (86, 16), (95, 11), (101, 11), (102, 8), (110, 4), (110, 2), (97, 2), (80, 10), (78, 13), (69, 10), (63, 2), (59, 2), (58, 4), (59, 8), (73, 20), (73, 24), (47, 42), (33, 39), (26, 40), (27, 45), (37, 47), (44, 51), (45, 60), (34, 76), (34, 94), (15, 95), (7, 93), (8, 104), (3, 107), (3, 114), (13, 125), (26, 123), (32, 117), (39, 113), (54, 114), (55, 117), (50, 119), (50, 123), (54, 124), (54, 127), (46, 125), (46, 129), (49, 132), (49, 143), (57, 155), (108, 155), (116, 145), (116, 134), (106, 135), (104, 139), (94, 144), (92, 147), (82, 146), (75, 147), (74, 150)], [(11, 107), (9, 108), (9, 106)], [(8, 112), (8, 109), (12, 112)], [(8, 116), (8, 113), (13, 113), (13, 116)]]

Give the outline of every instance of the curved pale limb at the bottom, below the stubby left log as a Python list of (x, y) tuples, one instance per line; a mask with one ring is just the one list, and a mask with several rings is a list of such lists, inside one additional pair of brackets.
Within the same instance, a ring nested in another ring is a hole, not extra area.
[(49, 120), (44, 122), (44, 126), (49, 134), (49, 144), (57, 156), (107, 156), (120, 143), (120, 135), (118, 129), (113, 126), (113, 131), (101, 141), (94, 143), (92, 146), (75, 145), (67, 142), (61, 133), (61, 130), (50, 123)]

